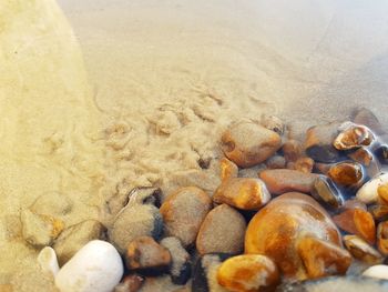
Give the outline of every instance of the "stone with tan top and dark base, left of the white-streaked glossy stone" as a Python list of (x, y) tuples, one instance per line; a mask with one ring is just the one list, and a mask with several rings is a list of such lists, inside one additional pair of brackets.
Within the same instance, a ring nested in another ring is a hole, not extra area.
[(315, 125), (307, 130), (305, 151), (308, 157), (317, 162), (336, 162), (340, 153), (334, 148), (333, 141), (338, 134), (340, 123)]

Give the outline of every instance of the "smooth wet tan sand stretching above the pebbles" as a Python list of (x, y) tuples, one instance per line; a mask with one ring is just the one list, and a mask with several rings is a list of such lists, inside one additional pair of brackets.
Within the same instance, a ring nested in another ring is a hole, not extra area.
[(236, 119), (298, 134), (366, 105), (388, 124), (385, 1), (59, 3), (75, 38), (52, 1), (0, 3), (0, 284), (32, 278), (19, 217), (44, 193), (73, 200), (67, 225), (109, 224), (133, 187), (211, 193)]

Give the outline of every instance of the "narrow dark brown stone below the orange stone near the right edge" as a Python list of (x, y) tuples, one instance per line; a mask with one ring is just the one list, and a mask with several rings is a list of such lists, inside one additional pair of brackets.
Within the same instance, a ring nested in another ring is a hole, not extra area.
[(377, 264), (382, 262), (381, 254), (370, 246), (366, 241), (357, 235), (345, 235), (344, 243), (346, 249), (354, 258), (368, 264)]

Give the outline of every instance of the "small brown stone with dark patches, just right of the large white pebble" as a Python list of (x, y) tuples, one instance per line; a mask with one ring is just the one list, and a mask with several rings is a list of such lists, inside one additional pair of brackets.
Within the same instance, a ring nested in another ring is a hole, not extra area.
[(151, 236), (135, 239), (129, 244), (125, 253), (129, 270), (166, 271), (171, 260), (170, 251)]

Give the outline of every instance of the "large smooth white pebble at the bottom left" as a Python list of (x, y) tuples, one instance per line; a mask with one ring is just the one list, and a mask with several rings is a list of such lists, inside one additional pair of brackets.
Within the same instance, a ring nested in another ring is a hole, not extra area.
[(111, 292), (123, 275), (123, 262), (106, 241), (93, 240), (79, 250), (55, 276), (61, 292)]

